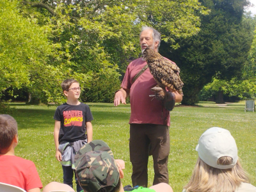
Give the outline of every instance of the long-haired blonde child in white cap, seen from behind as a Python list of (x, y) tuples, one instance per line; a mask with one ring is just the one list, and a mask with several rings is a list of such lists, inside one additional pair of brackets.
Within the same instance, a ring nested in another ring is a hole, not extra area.
[(199, 138), (198, 159), (182, 192), (255, 192), (238, 156), (236, 141), (227, 129), (210, 128)]

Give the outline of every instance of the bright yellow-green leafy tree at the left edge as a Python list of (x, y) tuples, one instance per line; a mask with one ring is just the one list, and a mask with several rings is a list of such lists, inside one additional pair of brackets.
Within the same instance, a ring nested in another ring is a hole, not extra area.
[(0, 96), (6, 89), (24, 88), (36, 100), (61, 102), (61, 80), (75, 77), (83, 83), (86, 76), (51, 62), (60, 54), (54, 50), (58, 44), (48, 40), (48, 26), (22, 17), (17, 1), (3, 0), (0, 5)]

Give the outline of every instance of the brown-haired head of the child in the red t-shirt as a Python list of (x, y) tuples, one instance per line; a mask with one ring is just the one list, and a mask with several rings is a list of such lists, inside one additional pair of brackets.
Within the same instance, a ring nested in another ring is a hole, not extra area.
[(15, 119), (10, 115), (0, 115), (0, 152), (10, 147), (17, 134), (18, 126)]

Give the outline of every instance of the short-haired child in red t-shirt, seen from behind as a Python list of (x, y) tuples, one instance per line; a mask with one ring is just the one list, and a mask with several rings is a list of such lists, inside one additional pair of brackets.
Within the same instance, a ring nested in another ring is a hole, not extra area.
[(10, 115), (0, 115), (0, 182), (28, 192), (40, 192), (43, 185), (36, 166), (32, 161), (15, 156), (17, 145), (17, 122)]

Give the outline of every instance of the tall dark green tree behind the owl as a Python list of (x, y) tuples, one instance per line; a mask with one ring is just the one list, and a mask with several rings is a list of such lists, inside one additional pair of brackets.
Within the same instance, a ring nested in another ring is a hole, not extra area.
[(201, 31), (180, 41), (180, 48), (172, 50), (172, 54), (166, 52), (166, 57), (180, 67), (184, 81), (182, 104), (186, 105), (198, 102), (198, 93), (214, 75), (220, 80), (241, 77), (252, 42), (252, 25), (243, 22), (243, 8), (248, 1), (200, 2), (211, 10), (201, 17)]

